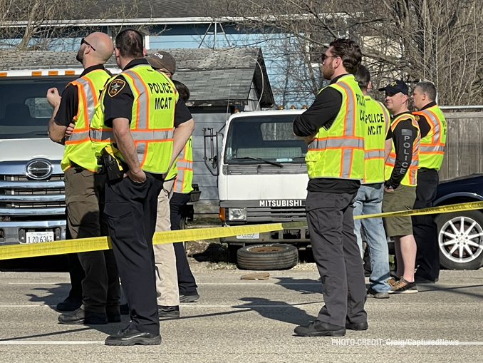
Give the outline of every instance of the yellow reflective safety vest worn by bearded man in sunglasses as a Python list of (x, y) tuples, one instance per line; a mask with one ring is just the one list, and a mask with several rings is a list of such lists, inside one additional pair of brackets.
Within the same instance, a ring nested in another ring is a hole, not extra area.
[(364, 178), (365, 99), (352, 74), (329, 85), (342, 95), (341, 111), (328, 130), (319, 128), (308, 145), (308, 178)]

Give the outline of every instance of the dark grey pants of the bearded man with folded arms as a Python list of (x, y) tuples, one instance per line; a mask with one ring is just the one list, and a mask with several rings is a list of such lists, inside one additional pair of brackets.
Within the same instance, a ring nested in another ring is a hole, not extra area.
[(317, 320), (345, 327), (367, 322), (363, 261), (354, 234), (354, 194), (308, 192), (308, 231), (322, 280), (323, 301)]

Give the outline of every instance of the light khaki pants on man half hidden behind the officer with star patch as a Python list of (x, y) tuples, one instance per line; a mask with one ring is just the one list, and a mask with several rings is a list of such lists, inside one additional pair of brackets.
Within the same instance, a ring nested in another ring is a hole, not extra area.
[[(170, 194), (174, 183), (175, 180), (165, 182), (157, 197), (156, 232), (171, 230)], [(157, 305), (180, 305), (175, 247), (172, 243), (162, 243), (152, 247), (155, 251)]]

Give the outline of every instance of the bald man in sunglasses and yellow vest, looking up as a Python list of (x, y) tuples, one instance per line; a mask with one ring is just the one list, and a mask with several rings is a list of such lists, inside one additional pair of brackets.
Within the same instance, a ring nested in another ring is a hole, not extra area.
[[(89, 139), (89, 124), (110, 74), (103, 64), (113, 54), (113, 41), (107, 34), (93, 33), (81, 41), (77, 60), (83, 64), (81, 77), (68, 84), (58, 95), (56, 88), (47, 93), (53, 106), (53, 117), (48, 123), (51, 140), (59, 142), (73, 123), (73, 132), (65, 138), (61, 166), (65, 173), (66, 213), (68, 234), (71, 238), (108, 235), (103, 213), (104, 177), (96, 173), (97, 159)], [(74, 310), (62, 314), (61, 324), (106, 324), (120, 322), (120, 286), (118, 268), (113, 251), (83, 252), (78, 254), (85, 278), (82, 280), (82, 306), (69, 299), (60, 303), (61, 310)], [(71, 262), (71, 258), (69, 261)], [(71, 265), (71, 282), (81, 275)]]

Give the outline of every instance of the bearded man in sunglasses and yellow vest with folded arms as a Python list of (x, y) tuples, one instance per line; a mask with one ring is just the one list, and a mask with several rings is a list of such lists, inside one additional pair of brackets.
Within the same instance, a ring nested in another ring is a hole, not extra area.
[(321, 59), (323, 78), (331, 83), (294, 121), (294, 134), (308, 144), (307, 223), (326, 304), (315, 322), (296, 327), (296, 334), (307, 337), (368, 329), (353, 220), (353, 200), (364, 178), (365, 98), (353, 76), (361, 58), (355, 42), (333, 41)]

